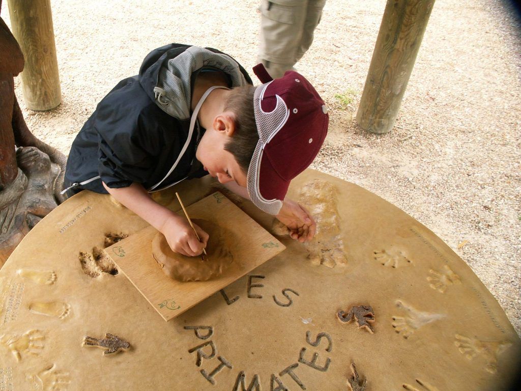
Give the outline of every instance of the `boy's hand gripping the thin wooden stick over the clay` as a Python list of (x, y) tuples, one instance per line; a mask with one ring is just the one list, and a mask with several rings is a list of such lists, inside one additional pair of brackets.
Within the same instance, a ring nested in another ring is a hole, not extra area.
[(201, 255), (206, 247), (208, 234), (197, 224), (194, 224), (194, 227), (201, 241), (197, 240), (188, 221), (178, 216), (168, 218), (160, 231), (165, 235), (168, 245), (173, 252), (187, 256), (196, 256)]

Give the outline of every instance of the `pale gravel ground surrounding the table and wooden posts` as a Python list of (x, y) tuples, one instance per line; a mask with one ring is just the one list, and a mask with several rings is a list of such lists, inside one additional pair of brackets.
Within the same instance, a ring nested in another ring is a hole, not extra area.
[[(51, 1), (63, 102), (29, 128), (67, 153), (96, 103), (169, 42), (213, 46), (246, 69), (257, 0)], [(169, 8), (165, 9), (165, 4)], [(392, 132), (355, 112), (385, 0), (329, 0), (297, 69), (330, 106), (312, 167), (361, 185), (426, 225), (468, 263), (521, 335), (521, 22), (504, 0), (438, 0)], [(10, 26), (7, 2), (2, 17)]]

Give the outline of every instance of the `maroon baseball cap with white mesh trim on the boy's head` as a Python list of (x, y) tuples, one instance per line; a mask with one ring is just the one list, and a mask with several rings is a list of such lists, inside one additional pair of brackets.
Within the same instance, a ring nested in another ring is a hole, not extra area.
[(291, 180), (315, 159), (327, 135), (328, 110), (304, 76), (287, 71), (273, 80), (264, 65), (253, 68), (262, 83), (253, 107), (259, 141), (247, 174), (250, 199), (276, 215)]

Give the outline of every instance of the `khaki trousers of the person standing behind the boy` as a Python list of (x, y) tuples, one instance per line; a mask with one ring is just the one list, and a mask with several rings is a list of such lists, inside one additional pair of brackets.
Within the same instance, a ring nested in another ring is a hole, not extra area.
[(326, 0), (261, 1), (261, 36), (257, 63), (279, 78), (306, 53)]

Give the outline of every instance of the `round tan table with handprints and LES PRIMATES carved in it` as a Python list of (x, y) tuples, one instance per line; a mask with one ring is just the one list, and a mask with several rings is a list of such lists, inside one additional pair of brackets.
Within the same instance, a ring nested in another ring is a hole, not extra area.
[(316, 217), (309, 245), (210, 178), (154, 198), (177, 211), (175, 191), (189, 205), (216, 189), (287, 249), (170, 322), (103, 251), (146, 227), (139, 217), (83, 191), (38, 223), (0, 271), (0, 390), (508, 386), (521, 352), (514, 328), (412, 217), (314, 170), (289, 194)]

